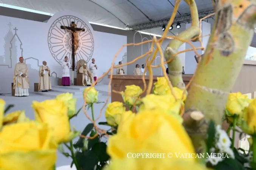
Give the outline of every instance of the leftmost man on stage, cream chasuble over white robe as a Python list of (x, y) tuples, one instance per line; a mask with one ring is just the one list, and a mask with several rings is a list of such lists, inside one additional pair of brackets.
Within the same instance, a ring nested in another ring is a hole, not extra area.
[(29, 96), (28, 66), (24, 63), (23, 57), (20, 57), (19, 61), (15, 65), (13, 76), (15, 96)]

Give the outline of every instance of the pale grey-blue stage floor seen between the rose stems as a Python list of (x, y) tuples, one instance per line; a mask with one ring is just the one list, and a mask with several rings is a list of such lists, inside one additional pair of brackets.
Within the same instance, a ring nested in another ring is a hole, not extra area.
[[(71, 87), (73, 87), (73, 86), (71, 86)], [(79, 87), (79, 86), (76, 86), (76, 87)], [(81, 88), (84, 89), (85, 87), (81, 87)], [(95, 89), (99, 90), (98, 100), (101, 102), (106, 102), (107, 85), (96, 85)], [(68, 91), (67, 88), (64, 88), (64, 90)], [(43, 93), (48, 93), (48, 92), (43, 92)], [(76, 95), (74, 95), (74, 96), (76, 97)], [(28, 116), (30, 119), (34, 119), (34, 111), (31, 108), (32, 101), (36, 100), (36, 101), (41, 102), (43, 100), (53, 99), (54, 97), (42, 96), (42, 95), (30, 93), (29, 96), (26, 96), (26, 97), (14, 97), (14, 96), (11, 96), (11, 94), (6, 94), (5, 96), (0, 96), (0, 98), (5, 100), (6, 105), (9, 105), (9, 104), (15, 105), (15, 107), (11, 108), (11, 110), (9, 110), (9, 112), (16, 111), (16, 110), (25, 110), (26, 116)], [(78, 100), (76, 102), (76, 108), (78, 110), (79, 108), (82, 107), (82, 105), (84, 104), (84, 101), (83, 101), (83, 98), (79, 95), (77, 98), (78, 98)], [(109, 102), (111, 102), (111, 98), (109, 98)], [(104, 103), (95, 104), (95, 107), (94, 107), (95, 118), (97, 118), (99, 116), (99, 111), (101, 110), (103, 105), (104, 105)], [(87, 111), (87, 114), (89, 116), (92, 115), (91, 110)], [(105, 109), (102, 111), (102, 116), (99, 118), (98, 122), (106, 122), (104, 115), (105, 115)], [(76, 130), (82, 131), (82, 130), (84, 130), (85, 126), (88, 123), (90, 123), (90, 121), (85, 117), (83, 111), (81, 111), (77, 117), (74, 117), (73, 119), (71, 119), (70, 127), (72, 128), (72, 126), (74, 126), (76, 128)], [(99, 126), (99, 127), (101, 127), (102, 129), (105, 129), (105, 130), (109, 129), (109, 127), (106, 127), (106, 126)], [(104, 138), (102, 138), (102, 139), (104, 140)], [(66, 158), (65, 156), (58, 153), (56, 167), (60, 167), (63, 165), (70, 165), (70, 163), (71, 163), (71, 159)]]

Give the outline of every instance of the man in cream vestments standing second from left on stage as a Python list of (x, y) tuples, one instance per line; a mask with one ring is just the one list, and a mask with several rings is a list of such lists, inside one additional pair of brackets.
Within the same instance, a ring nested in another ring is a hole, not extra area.
[(38, 90), (42, 90), (42, 92), (51, 90), (50, 68), (47, 66), (46, 61), (43, 61), (43, 65), (39, 67)]

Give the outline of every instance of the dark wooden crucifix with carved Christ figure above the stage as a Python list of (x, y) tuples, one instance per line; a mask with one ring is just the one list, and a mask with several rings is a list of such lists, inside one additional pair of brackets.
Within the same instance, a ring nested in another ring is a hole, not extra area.
[(74, 77), (74, 66), (75, 66), (74, 56), (76, 55), (76, 50), (79, 47), (78, 33), (85, 30), (84, 28), (76, 28), (76, 24), (74, 22), (71, 22), (70, 26), (61, 26), (61, 29), (67, 30), (72, 35), (72, 76)]

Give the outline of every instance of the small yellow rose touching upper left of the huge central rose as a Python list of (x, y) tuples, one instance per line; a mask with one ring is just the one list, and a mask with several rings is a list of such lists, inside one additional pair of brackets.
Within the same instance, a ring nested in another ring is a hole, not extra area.
[(117, 126), (121, 121), (121, 115), (125, 112), (125, 107), (121, 102), (112, 102), (107, 105), (105, 117), (110, 126)]

